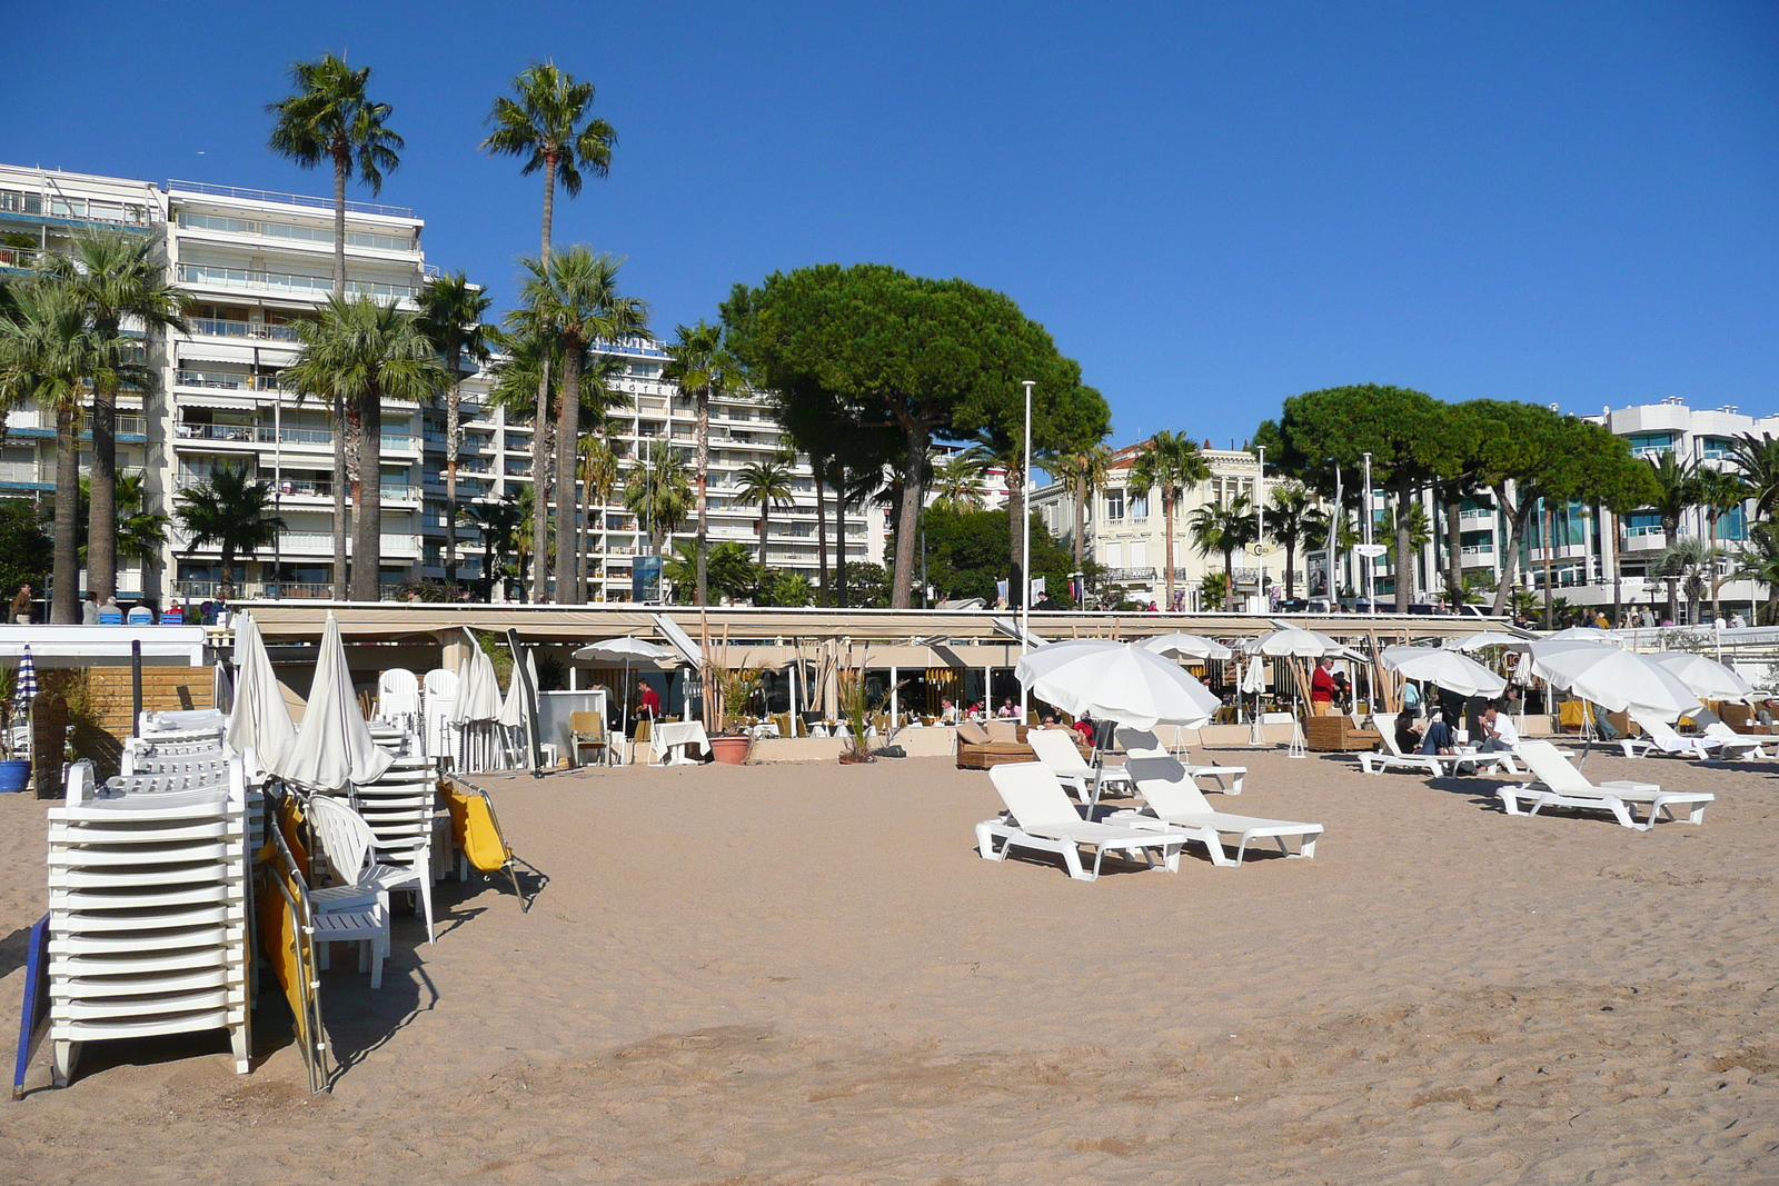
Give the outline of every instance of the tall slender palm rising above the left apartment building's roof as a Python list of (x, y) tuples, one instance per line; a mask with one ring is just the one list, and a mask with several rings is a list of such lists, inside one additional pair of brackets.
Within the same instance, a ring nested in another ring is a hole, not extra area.
[[(347, 295), (345, 279), (345, 187), (354, 178), (382, 192), (382, 174), (395, 172), (400, 164), (402, 137), (384, 126), (395, 110), (388, 103), (374, 103), (365, 94), (370, 66), (352, 69), (333, 53), (318, 62), (295, 62), (290, 68), (295, 94), (269, 103), (265, 110), (278, 116), (267, 148), (302, 169), (315, 169), (324, 160), (334, 171), (334, 295)], [(347, 420), (345, 395), (313, 391), (331, 400), (334, 420), (334, 599), (347, 596), (345, 567), (345, 484), (347, 441), (340, 425)], [(375, 457), (377, 453), (372, 453)], [(375, 464), (375, 462), (372, 462)]]

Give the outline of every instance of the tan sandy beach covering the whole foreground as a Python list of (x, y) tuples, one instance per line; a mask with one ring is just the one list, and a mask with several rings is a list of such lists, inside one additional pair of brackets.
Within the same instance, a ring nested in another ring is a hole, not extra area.
[[(249, 1078), (101, 1044), (57, 1092), (39, 1051), (0, 1179), (1779, 1182), (1779, 766), (1596, 754), (1719, 795), (1638, 834), (1211, 756), (1316, 857), (986, 862), (943, 759), (491, 779), (535, 905), (447, 882), (381, 992), (338, 958), (331, 1095), (276, 1021)], [(0, 798), (9, 1035), (43, 811)]]

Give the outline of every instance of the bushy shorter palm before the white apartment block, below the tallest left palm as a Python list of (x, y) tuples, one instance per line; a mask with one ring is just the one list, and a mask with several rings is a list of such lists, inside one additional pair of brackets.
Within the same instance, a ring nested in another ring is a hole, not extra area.
[(358, 473), (352, 482), (350, 599), (377, 601), (382, 553), (382, 400), (422, 402), (450, 384), (432, 343), (413, 315), (370, 297), (327, 297), (320, 317), (295, 322), (302, 343), (297, 361), (283, 372), (295, 391), (331, 391), (347, 402), (358, 427)]

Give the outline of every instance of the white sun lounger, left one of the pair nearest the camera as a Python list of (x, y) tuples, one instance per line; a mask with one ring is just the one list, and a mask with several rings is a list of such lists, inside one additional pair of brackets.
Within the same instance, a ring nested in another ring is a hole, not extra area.
[[(1053, 852), (1062, 855), (1069, 877), (1091, 882), (1099, 877), (1099, 862), (1108, 848), (1124, 853), (1140, 852), (1151, 866), (1155, 859), (1149, 853), (1160, 848), (1167, 871), (1179, 871), (1179, 848), (1187, 841), (1183, 832), (1089, 823), (1044, 763), (994, 766), (989, 770), (989, 779), (1007, 804), (1007, 814), (977, 825), (977, 848), (987, 861), (1005, 861), (1014, 848)], [(1094, 852), (1091, 873), (1082, 868), (1082, 848)]]

